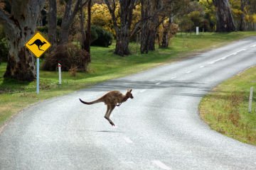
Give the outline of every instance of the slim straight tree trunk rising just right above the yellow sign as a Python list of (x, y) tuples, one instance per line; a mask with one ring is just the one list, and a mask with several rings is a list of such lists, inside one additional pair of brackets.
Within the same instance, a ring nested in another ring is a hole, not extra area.
[[(48, 38), (53, 47), (57, 45), (57, 4), (56, 0), (49, 1)], [(53, 48), (52, 48), (53, 49)]]

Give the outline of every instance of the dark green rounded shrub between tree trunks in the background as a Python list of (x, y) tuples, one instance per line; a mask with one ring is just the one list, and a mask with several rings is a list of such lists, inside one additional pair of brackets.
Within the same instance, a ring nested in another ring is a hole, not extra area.
[[(92, 26), (92, 46), (108, 47), (112, 44), (113, 36), (100, 26)], [(95, 34), (96, 33), (96, 34)]]

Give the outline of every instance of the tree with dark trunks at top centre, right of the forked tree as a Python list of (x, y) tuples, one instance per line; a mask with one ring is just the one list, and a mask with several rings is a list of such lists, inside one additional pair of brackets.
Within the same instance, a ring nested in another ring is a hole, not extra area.
[[(141, 52), (155, 50), (155, 39), (158, 36), (161, 47), (168, 47), (169, 35), (174, 16), (178, 14), (181, 8), (188, 4), (187, 0), (141, 0), (142, 3), (142, 29), (141, 29)], [(164, 21), (169, 20), (166, 24)], [(159, 37), (159, 26), (163, 26), (162, 37)]]

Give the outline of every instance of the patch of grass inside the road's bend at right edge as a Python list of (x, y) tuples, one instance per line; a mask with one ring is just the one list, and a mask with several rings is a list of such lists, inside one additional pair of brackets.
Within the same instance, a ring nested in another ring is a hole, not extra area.
[(201, 118), (210, 128), (241, 142), (256, 145), (256, 96), (248, 113), (250, 87), (255, 87), (256, 67), (224, 81), (200, 103)]

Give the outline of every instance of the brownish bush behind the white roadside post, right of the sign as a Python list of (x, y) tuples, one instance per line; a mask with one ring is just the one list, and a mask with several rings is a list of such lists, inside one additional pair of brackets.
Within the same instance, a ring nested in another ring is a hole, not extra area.
[(87, 71), (89, 61), (90, 54), (78, 46), (72, 43), (59, 45), (46, 55), (43, 70), (55, 71), (58, 69), (58, 62), (60, 62), (63, 71), (69, 71), (72, 67), (76, 67), (78, 71)]

